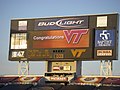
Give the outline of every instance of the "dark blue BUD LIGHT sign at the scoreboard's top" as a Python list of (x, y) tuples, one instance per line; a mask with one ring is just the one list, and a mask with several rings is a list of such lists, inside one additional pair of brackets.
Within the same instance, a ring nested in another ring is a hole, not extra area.
[(69, 17), (35, 20), (35, 30), (88, 28), (88, 17)]

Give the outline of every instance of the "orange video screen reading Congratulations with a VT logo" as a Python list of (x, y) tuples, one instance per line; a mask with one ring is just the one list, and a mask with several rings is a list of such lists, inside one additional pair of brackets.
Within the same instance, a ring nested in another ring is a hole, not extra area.
[(89, 47), (88, 29), (34, 31), (29, 37), (33, 48)]

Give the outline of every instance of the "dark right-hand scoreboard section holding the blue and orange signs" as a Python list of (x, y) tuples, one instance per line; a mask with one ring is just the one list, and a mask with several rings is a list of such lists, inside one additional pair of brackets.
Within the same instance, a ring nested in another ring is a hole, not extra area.
[(95, 59), (117, 59), (115, 29), (95, 30)]

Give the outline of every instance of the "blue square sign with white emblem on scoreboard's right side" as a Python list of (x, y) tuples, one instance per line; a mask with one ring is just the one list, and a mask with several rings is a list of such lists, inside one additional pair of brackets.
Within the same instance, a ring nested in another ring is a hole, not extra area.
[(114, 46), (114, 30), (96, 30), (95, 46)]

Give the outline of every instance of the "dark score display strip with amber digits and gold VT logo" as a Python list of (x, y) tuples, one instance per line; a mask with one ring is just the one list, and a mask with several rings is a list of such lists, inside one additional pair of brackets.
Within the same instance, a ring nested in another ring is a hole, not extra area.
[[(27, 58), (33, 60), (55, 60), (55, 59), (66, 59), (66, 60), (87, 60), (91, 58), (90, 49), (61, 49), (64, 52), (54, 52), (56, 49), (31, 49), (27, 50)], [(59, 49), (57, 51), (60, 51)]]

